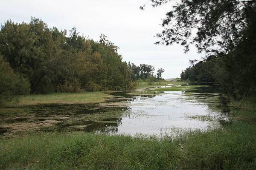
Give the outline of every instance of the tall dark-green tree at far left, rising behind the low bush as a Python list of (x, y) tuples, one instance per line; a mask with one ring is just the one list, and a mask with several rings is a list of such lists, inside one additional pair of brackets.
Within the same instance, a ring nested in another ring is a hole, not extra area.
[(33, 93), (54, 91), (65, 36), (52, 30), (42, 20), (32, 18), (29, 24), (7, 20), (0, 30), (0, 52), (13, 70), (29, 79)]

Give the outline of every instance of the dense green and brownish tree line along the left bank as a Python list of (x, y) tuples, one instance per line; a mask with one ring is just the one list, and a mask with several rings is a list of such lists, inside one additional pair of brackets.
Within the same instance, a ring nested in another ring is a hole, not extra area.
[(96, 42), (37, 18), (7, 20), (0, 30), (0, 95), (131, 90), (137, 79), (153, 77), (153, 66), (123, 62), (117, 50), (103, 34)]

